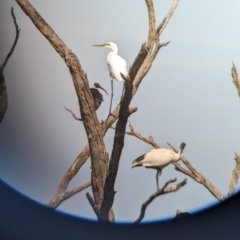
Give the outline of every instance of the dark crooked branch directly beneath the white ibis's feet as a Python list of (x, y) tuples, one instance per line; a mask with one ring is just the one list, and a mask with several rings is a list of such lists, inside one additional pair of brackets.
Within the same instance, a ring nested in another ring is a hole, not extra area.
[(176, 178), (175, 179), (170, 179), (169, 181), (167, 181), (163, 188), (159, 189), (157, 192), (153, 193), (143, 204), (142, 204), (142, 207), (141, 207), (141, 211), (140, 211), (140, 215), (139, 217), (137, 218), (137, 220), (134, 222), (134, 224), (139, 224), (142, 219), (144, 218), (144, 215), (145, 215), (145, 212), (146, 212), (146, 208), (147, 206), (158, 196), (160, 195), (163, 195), (163, 194), (166, 194), (166, 193), (170, 193), (170, 192), (175, 192), (177, 191), (178, 189), (180, 189), (181, 187), (183, 187), (184, 185), (186, 185), (187, 183), (187, 179), (184, 179), (182, 182), (172, 186), (172, 187), (169, 187), (167, 188), (167, 186), (170, 184), (170, 183), (173, 183), (173, 182), (176, 182)]

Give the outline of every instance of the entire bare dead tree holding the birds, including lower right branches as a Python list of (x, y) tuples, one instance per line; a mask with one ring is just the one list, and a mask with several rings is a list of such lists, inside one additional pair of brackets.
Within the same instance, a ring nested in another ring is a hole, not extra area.
[[(112, 210), (112, 205), (116, 193), (114, 185), (117, 178), (122, 149), (124, 147), (125, 134), (135, 136), (138, 139), (151, 144), (154, 148), (160, 148), (160, 146), (155, 143), (153, 137), (143, 137), (140, 133), (135, 131), (131, 124), (129, 125), (130, 131), (127, 132), (126, 125), (129, 115), (137, 111), (137, 108), (129, 108), (132, 98), (137, 92), (143, 78), (150, 70), (159, 50), (162, 47), (167, 46), (169, 43), (161, 43), (160, 36), (166, 28), (174, 11), (176, 10), (179, 0), (173, 1), (168, 14), (163, 19), (161, 24), (157, 26), (153, 2), (152, 0), (145, 0), (149, 20), (147, 41), (146, 43), (142, 44), (137, 57), (130, 67), (128, 75), (122, 75), (125, 80), (125, 93), (120, 105), (117, 106), (116, 109), (112, 111), (111, 115), (109, 115), (108, 118), (101, 123), (99, 122), (94, 110), (94, 104), (91, 92), (89, 90), (87, 75), (83, 71), (77, 56), (65, 45), (65, 43), (59, 38), (50, 25), (40, 16), (40, 14), (30, 4), (29, 1), (16, 0), (16, 2), (22, 8), (25, 14), (32, 20), (36, 28), (49, 41), (52, 47), (59, 53), (68, 66), (78, 97), (81, 118), (77, 117), (76, 114), (70, 109), (66, 108), (66, 110), (72, 114), (75, 120), (81, 120), (83, 122), (88, 139), (88, 145), (84, 147), (69, 169), (66, 171), (54, 197), (48, 203), (48, 207), (55, 209), (64, 200), (80, 192), (81, 190), (92, 186), (93, 196), (91, 196), (90, 193), (87, 193), (87, 198), (98, 218), (98, 221), (113, 222), (114, 213)], [(116, 127), (112, 127), (115, 121)], [(109, 128), (113, 128), (115, 130), (113, 150), (110, 158), (108, 157), (108, 153), (103, 141), (104, 135)], [(169, 144), (169, 146), (176, 151), (172, 145)], [(69, 183), (89, 157), (91, 158), (92, 169), (91, 181), (68, 191), (67, 188)], [(180, 163), (173, 163), (177, 171), (182, 172), (196, 182), (202, 184), (219, 201), (224, 199), (223, 194), (217, 189), (217, 187), (215, 187), (203, 174), (198, 172), (190, 164), (186, 157), (182, 157), (182, 163), (184, 164), (184, 167), (181, 166)], [(175, 192), (176, 190), (185, 186), (186, 179), (174, 186), (168, 187), (170, 183), (174, 182), (176, 182), (176, 179), (170, 179), (167, 181), (160, 190), (153, 193), (149, 199), (143, 203), (140, 210), (140, 215), (135, 223), (140, 223), (142, 221), (147, 206), (156, 197), (166, 193)], [(234, 189), (235, 187), (232, 187), (231, 193), (234, 191)]]

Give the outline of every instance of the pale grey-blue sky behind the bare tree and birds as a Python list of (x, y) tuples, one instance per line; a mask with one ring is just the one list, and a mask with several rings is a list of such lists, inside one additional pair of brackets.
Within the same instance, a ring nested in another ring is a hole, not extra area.
[[(108, 49), (93, 44), (115, 42), (119, 55), (131, 66), (147, 40), (148, 14), (144, 0), (82, 1), (31, 0), (40, 15), (78, 56), (90, 86), (100, 83), (110, 93), (106, 65)], [(156, 22), (168, 13), (172, 0), (154, 1)], [(64, 106), (79, 115), (77, 96), (67, 66), (15, 1), (0, 2), (0, 63), (15, 37), (10, 14), (17, 18), (20, 37), (5, 70), (8, 109), (0, 124), (0, 178), (28, 197), (47, 204), (64, 173), (87, 144), (82, 123)], [(186, 142), (184, 156), (218, 189), (227, 195), (234, 152), (240, 154), (240, 101), (231, 79), (232, 61), (240, 71), (240, 2), (185, 0), (161, 35), (171, 41), (160, 50), (141, 83), (131, 107), (138, 111), (130, 121), (143, 136), (153, 136), (161, 147), (176, 148)], [(119, 102), (122, 83), (114, 81), (113, 108)], [(97, 110), (99, 120), (108, 114), (110, 95)], [(104, 141), (108, 153), (114, 131)], [(156, 190), (156, 171), (131, 168), (132, 161), (152, 149), (125, 137), (113, 209), (117, 222), (132, 222), (141, 204)], [(90, 180), (90, 160), (72, 180), (68, 190)], [(170, 165), (160, 185), (170, 178), (187, 185), (155, 199), (144, 221), (172, 218), (176, 209), (194, 213), (218, 201), (202, 185)], [(88, 188), (57, 209), (96, 219), (89, 205)]]

